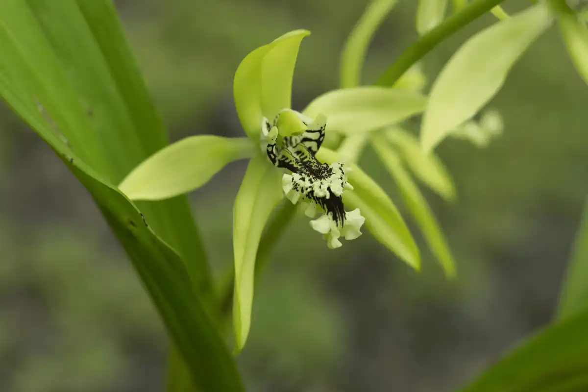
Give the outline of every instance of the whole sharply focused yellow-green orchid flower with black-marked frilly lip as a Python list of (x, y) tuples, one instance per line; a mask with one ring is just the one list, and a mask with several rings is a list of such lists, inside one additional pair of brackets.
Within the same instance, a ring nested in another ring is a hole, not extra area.
[(409, 89), (359, 87), (327, 92), (298, 112), (290, 108), (299, 46), (297, 30), (250, 52), (240, 63), (233, 95), (246, 138), (197, 135), (146, 159), (121, 182), (132, 200), (160, 200), (198, 189), (227, 163), (249, 159), (233, 207), (233, 331), (235, 350), (250, 329), (253, 272), (260, 237), (284, 196), (310, 217), (328, 247), (342, 246), (366, 229), (407, 264), (419, 269), (417, 246), (396, 206), (350, 159), (322, 146), (336, 130), (361, 135), (425, 109)]

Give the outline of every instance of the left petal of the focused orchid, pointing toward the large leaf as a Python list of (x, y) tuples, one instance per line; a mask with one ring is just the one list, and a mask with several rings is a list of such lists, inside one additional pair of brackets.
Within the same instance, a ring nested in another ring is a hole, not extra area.
[(161, 200), (201, 187), (233, 160), (248, 158), (247, 138), (199, 135), (169, 145), (135, 167), (119, 189), (131, 200)]

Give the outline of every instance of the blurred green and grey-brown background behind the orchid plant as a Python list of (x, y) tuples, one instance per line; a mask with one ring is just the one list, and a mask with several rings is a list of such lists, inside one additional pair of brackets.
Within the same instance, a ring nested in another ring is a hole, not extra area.
[[(295, 108), (336, 88), (340, 49), (367, 3), (116, 1), (174, 140), (240, 136), (233, 73), (249, 51), (292, 29), (312, 31), (296, 66)], [(417, 37), (415, 6), (400, 1), (377, 33), (366, 83)], [(492, 22), (486, 15), (427, 55), (429, 84), (467, 36)], [(548, 323), (588, 194), (586, 102), (588, 88), (552, 28), (491, 102), (503, 135), (485, 149), (440, 146), (457, 202), (423, 191), (455, 253), (455, 282), (415, 226), (420, 274), (369, 234), (328, 250), (299, 217), (258, 281), (238, 358), (248, 390), (449, 391)], [(0, 129), (0, 390), (161, 390), (162, 324), (98, 209), (5, 106)], [(396, 195), (371, 150), (361, 165)], [(232, 263), (232, 200), (244, 169), (232, 163), (189, 195), (219, 275)]]

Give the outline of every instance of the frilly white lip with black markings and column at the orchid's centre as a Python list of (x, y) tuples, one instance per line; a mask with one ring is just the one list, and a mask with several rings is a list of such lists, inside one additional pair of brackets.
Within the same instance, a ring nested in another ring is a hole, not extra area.
[(350, 168), (341, 162), (328, 165), (316, 159), (316, 152), (325, 139), (325, 128), (324, 115), (312, 120), (285, 109), (272, 123), (263, 119), (262, 148), (273, 165), (292, 173), (282, 177), (282, 189), (290, 202), (308, 204), (305, 213), (310, 217), (324, 212), (310, 226), (324, 234), (333, 249), (342, 245), (338, 240), (342, 235), (348, 240), (359, 237), (365, 219), (359, 209), (345, 212), (343, 206), (343, 192), (353, 189), (346, 175)]

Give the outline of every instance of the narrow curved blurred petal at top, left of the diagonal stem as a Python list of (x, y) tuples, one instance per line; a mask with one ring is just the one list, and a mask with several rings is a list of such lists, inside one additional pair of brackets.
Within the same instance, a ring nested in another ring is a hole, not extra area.
[(382, 24), (398, 0), (374, 0), (349, 33), (341, 53), (340, 88), (360, 85), (363, 61), (377, 28)]

